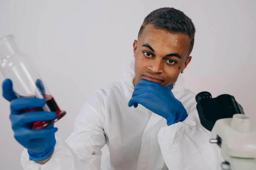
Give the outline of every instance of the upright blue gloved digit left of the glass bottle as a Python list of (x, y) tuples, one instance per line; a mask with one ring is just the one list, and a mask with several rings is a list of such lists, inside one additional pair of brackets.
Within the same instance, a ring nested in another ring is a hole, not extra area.
[(3, 88), (3, 97), (6, 100), (8, 100), (10, 102), (13, 99), (17, 98), (16, 94), (14, 93), (14, 91), (12, 89), (12, 82), (10, 79), (4, 80), (4, 82), (2, 84), (2, 88)]

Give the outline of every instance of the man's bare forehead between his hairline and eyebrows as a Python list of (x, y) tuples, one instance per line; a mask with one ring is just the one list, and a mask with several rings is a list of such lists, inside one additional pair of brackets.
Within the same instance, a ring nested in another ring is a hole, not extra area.
[(138, 39), (139, 46), (149, 44), (156, 52), (178, 52), (181, 56), (187, 55), (190, 46), (189, 36), (181, 33), (170, 33), (147, 25)]

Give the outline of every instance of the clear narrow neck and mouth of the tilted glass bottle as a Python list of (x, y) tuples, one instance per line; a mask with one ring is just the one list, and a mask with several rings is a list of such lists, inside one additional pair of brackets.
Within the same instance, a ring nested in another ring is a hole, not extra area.
[(0, 39), (0, 59), (9, 58), (16, 53), (20, 53), (13, 35), (8, 35)]

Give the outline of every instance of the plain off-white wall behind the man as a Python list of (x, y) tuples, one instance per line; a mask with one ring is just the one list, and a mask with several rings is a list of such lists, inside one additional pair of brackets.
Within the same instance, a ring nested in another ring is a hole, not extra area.
[[(133, 57), (132, 43), (145, 16), (175, 7), (196, 26), (185, 87), (213, 97), (228, 93), (253, 120), (256, 84), (256, 1), (86, 1), (0, 0), (0, 37), (13, 34), (34, 60), (60, 108), (56, 123), (66, 139), (90, 94), (119, 81), (121, 66)], [(4, 80), (0, 74), (0, 82)], [(9, 102), (0, 97), (0, 169), (22, 169), (19, 145), (11, 130)]]

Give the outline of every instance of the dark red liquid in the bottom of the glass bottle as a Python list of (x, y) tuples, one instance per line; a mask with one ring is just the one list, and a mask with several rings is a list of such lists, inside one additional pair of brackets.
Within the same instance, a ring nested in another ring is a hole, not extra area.
[[(44, 100), (46, 101), (46, 105), (50, 108), (50, 110), (57, 114), (56, 118), (54, 120), (33, 122), (32, 129), (43, 129), (53, 124), (54, 122), (60, 120), (60, 118), (62, 118), (66, 114), (65, 111), (60, 110), (59, 106), (57, 105), (57, 103), (55, 102), (54, 98), (51, 95), (44, 95), (43, 97), (44, 97)], [(24, 112), (30, 112), (30, 111), (43, 111), (43, 108), (37, 107), (33, 109), (24, 109)]]

